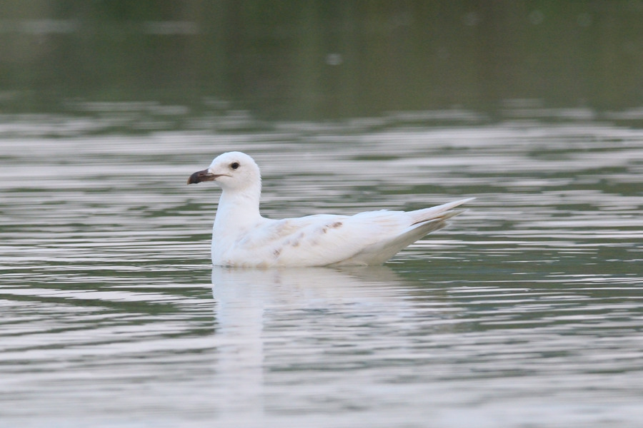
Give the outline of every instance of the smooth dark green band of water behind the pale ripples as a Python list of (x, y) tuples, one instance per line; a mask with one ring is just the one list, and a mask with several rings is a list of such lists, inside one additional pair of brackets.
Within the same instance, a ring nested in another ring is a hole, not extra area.
[(643, 98), (641, 1), (7, 0), (0, 16), (3, 113), (156, 101), (179, 116), (494, 119)]

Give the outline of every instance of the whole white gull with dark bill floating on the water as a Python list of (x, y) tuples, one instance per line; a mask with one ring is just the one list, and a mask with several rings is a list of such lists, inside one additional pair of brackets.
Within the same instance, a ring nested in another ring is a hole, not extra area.
[(221, 198), (212, 227), (212, 264), (231, 267), (381, 265), (402, 248), (444, 228), (474, 198), (414, 211), (318, 214), (273, 220), (259, 214), (261, 173), (238, 151), (223, 153), (190, 175), (188, 184), (214, 181)]

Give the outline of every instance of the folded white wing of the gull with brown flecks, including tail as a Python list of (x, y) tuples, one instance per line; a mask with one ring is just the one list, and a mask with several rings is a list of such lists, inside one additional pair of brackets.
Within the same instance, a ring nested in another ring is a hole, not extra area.
[[(245, 266), (382, 264), (461, 213), (458, 200), (415, 211), (367, 211), (352, 216), (309, 215), (266, 220), (234, 247)], [(243, 255), (243, 256), (241, 256)]]

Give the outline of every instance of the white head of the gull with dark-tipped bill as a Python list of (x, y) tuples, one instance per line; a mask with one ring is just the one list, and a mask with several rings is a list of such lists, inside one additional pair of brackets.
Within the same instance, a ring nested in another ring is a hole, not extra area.
[(261, 185), (259, 166), (254, 159), (241, 152), (223, 153), (207, 169), (196, 171), (188, 178), (188, 184), (215, 181), (222, 189), (243, 190)]

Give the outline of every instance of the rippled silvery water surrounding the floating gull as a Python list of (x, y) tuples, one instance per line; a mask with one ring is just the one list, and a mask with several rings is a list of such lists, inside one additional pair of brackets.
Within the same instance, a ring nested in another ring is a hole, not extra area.
[[(0, 125), (1, 427), (640, 426), (643, 131), (100, 126)], [(382, 267), (213, 269), (229, 150), (271, 218), (477, 199)]]

